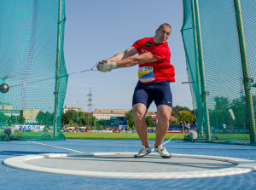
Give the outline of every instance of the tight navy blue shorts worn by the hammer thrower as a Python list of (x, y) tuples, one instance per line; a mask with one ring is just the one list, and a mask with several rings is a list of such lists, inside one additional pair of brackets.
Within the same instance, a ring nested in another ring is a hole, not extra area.
[(152, 101), (154, 101), (156, 107), (159, 105), (172, 107), (172, 91), (168, 81), (137, 83), (132, 97), (132, 106), (143, 103), (148, 108)]

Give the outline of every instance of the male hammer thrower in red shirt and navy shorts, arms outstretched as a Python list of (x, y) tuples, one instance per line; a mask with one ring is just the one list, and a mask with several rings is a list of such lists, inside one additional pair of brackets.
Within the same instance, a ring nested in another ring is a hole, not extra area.
[[(145, 116), (152, 101), (157, 107), (158, 117), (154, 150), (160, 153), (162, 158), (171, 158), (171, 154), (161, 146), (169, 128), (169, 118), (172, 112), (170, 82), (175, 82), (174, 67), (170, 63), (171, 52), (167, 43), (171, 32), (171, 26), (164, 23), (155, 31), (154, 37), (137, 40), (131, 48), (97, 64), (100, 72), (110, 72), (113, 69), (127, 66), (139, 66), (139, 81), (132, 98), (132, 110), (137, 134), (142, 141), (143, 148), (134, 156), (135, 158), (143, 158), (151, 153)], [(134, 56), (136, 54), (138, 55)]]

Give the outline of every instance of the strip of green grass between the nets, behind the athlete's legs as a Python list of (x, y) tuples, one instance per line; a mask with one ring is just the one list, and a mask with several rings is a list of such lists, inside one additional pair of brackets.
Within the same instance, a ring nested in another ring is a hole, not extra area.
[[(63, 133), (67, 139), (123, 139), (123, 140), (139, 140), (137, 133)], [(175, 136), (177, 135), (177, 136)], [(166, 140), (173, 136), (173, 140), (183, 140), (182, 133), (167, 133)], [(155, 133), (148, 133), (149, 140), (155, 140)]]

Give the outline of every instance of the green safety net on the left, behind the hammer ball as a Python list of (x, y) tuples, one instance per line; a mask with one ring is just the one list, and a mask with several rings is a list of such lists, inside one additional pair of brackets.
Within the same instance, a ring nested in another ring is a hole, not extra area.
[(65, 140), (64, 0), (0, 3), (0, 84), (9, 85), (0, 92), (0, 141), (9, 127), (13, 140)]

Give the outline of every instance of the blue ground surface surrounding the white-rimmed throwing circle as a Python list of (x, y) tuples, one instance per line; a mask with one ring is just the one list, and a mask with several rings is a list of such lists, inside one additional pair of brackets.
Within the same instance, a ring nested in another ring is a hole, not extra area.
[[(39, 143), (39, 144), (38, 144)], [(154, 141), (150, 141), (153, 145)], [(44, 153), (134, 153), (140, 149), (140, 141), (124, 141), (124, 140), (67, 140), (67, 141), (11, 141), (0, 142), (0, 160), (3, 162), (6, 158), (26, 155), (38, 155)], [(240, 146), (240, 145), (221, 145), (221, 144), (208, 144), (208, 143), (190, 143), (184, 141), (170, 141), (165, 145), (166, 149), (171, 153), (177, 154), (199, 154), (208, 156), (220, 156), (231, 158), (243, 158), (256, 160), (256, 147), (255, 146)], [(74, 157), (75, 158), (75, 157)], [(76, 170), (93, 169), (98, 170), (99, 161), (90, 160), (91, 157), (84, 157), (73, 162), (65, 158), (52, 159), (56, 162), (56, 166), (63, 166), (70, 168), (70, 161), (73, 163), (73, 168)], [(87, 164), (84, 163), (90, 162)], [(113, 160), (116, 164), (117, 158), (111, 157), (98, 157), (102, 159)], [(126, 158), (124, 158), (126, 159)], [(129, 158), (130, 159), (130, 158)], [(148, 158), (155, 159), (155, 158)], [(157, 158), (159, 159), (159, 158)], [(165, 159), (161, 159), (162, 164), (147, 163), (147, 167), (157, 170), (174, 170), (177, 166), (180, 171), (187, 170), (201, 170), (207, 168), (212, 170), (212, 167), (220, 169), (221, 167), (230, 167), (232, 164), (228, 163), (189, 163), (189, 160), (172, 158), (172, 164), (166, 165)], [(127, 162), (127, 160), (123, 160)], [(133, 159), (132, 159), (133, 161)], [(36, 160), (29, 161), (29, 164), (38, 164)], [(140, 168), (138, 161), (137, 169)], [(49, 162), (40, 163), (42, 166), (49, 166)], [(68, 165), (68, 166), (67, 166)], [(88, 167), (88, 166), (91, 167)], [(184, 166), (185, 165), (185, 166)], [(195, 166), (195, 167), (194, 167)], [(119, 170), (130, 170), (130, 167), (124, 165)], [(190, 169), (189, 169), (190, 168)], [(104, 170), (109, 170), (108, 167)], [(148, 171), (150, 172), (150, 171)], [(192, 179), (120, 179), (120, 178), (102, 178), (102, 177), (89, 177), (89, 176), (68, 176), (59, 174), (50, 174), (38, 171), (17, 170), (7, 167), (3, 164), (0, 165), (0, 189), (256, 189), (256, 172), (249, 172), (246, 174), (235, 176), (218, 176), (207, 178), (192, 178)]]

